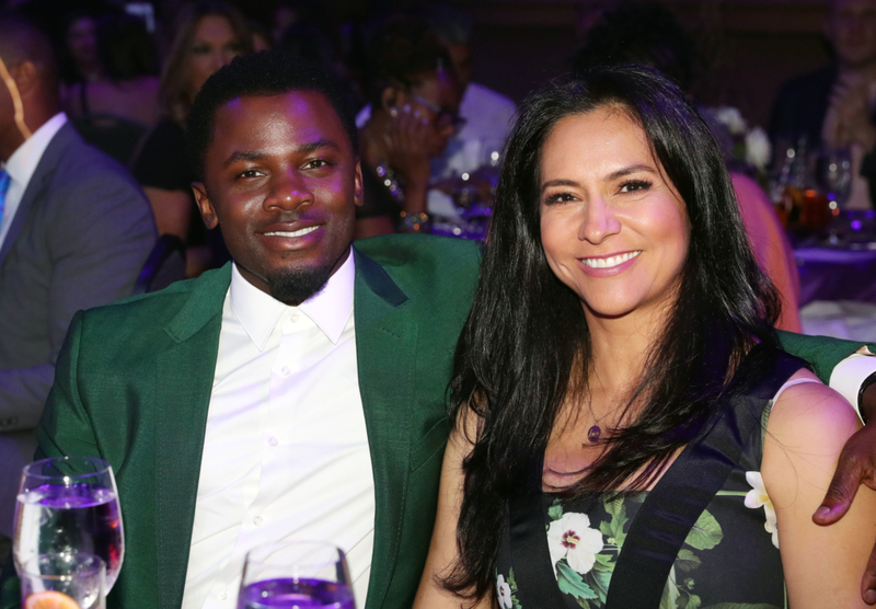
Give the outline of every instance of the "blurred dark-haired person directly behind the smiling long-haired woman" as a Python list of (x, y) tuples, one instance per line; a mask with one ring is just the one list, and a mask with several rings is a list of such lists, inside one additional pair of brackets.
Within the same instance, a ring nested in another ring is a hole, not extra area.
[[(658, 2), (633, 2), (604, 12), (576, 53), (573, 71), (619, 64), (650, 66), (685, 92), (691, 91), (704, 66), (687, 30)], [(719, 125), (713, 122), (710, 126), (718, 131), (719, 141), (726, 141)], [(730, 160), (731, 151), (725, 148), (724, 152)], [(799, 332), (799, 276), (782, 223), (769, 197), (751, 177), (738, 171), (730, 177), (754, 256), (782, 298), (779, 328)]]

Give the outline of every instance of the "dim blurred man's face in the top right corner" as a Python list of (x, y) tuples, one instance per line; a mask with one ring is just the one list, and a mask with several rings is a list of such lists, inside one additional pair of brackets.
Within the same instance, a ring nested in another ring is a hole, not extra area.
[(828, 37), (840, 64), (855, 68), (876, 61), (876, 1), (833, 0)]

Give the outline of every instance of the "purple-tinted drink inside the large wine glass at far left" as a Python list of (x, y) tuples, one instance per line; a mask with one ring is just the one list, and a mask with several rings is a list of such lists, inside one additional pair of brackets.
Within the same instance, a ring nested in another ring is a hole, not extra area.
[(18, 497), (15, 562), (19, 568), (41, 554), (94, 554), (106, 563), (106, 589), (124, 558), (118, 498), (94, 484), (44, 484)]

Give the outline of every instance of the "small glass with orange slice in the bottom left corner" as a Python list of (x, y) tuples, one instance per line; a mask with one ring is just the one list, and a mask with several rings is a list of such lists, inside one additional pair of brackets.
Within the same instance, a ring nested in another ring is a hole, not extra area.
[(22, 607), (104, 609), (106, 564), (93, 554), (41, 554), (22, 566)]

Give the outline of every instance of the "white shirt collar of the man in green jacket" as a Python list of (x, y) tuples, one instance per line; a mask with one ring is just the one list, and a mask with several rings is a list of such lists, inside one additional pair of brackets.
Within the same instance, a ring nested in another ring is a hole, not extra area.
[(243, 278), (237, 264), (231, 265), (231, 309), (252, 342), (264, 351), (274, 326), (289, 309), (304, 313), (332, 343), (337, 344), (353, 312), (353, 285), (356, 266), (353, 251), (341, 268), (328, 277), (323, 288), (298, 307), (288, 307)]

